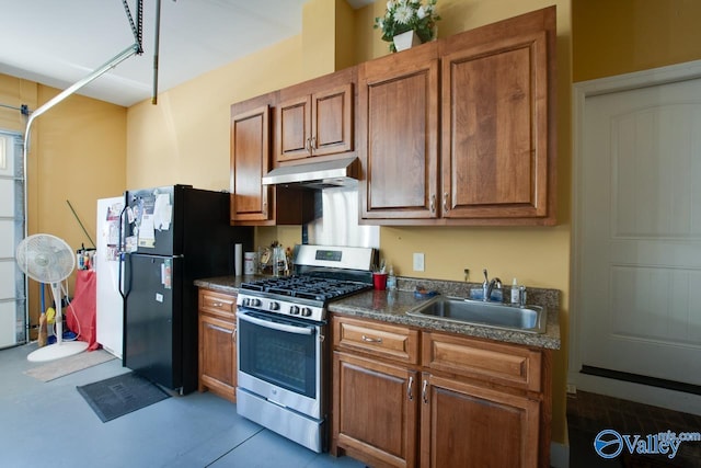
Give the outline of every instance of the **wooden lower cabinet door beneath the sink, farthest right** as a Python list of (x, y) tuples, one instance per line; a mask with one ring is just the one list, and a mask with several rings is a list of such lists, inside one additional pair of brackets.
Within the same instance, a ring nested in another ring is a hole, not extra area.
[(423, 374), (422, 467), (536, 467), (540, 402)]

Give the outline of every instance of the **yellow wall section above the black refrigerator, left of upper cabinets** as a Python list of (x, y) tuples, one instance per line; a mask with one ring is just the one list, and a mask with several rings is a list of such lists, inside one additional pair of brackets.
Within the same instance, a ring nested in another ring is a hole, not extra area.
[(296, 36), (129, 107), (127, 185), (229, 190), (231, 104), (303, 81), (301, 50)]

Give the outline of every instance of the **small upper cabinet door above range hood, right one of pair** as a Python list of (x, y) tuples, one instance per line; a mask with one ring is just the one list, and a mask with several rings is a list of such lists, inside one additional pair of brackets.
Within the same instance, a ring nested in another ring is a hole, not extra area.
[(313, 156), (353, 150), (353, 84), (312, 94)]

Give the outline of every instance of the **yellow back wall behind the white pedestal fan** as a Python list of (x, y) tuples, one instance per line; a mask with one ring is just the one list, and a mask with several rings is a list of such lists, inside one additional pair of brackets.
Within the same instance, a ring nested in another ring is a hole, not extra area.
[[(54, 98), (59, 90), (0, 75), (0, 102), (30, 110)], [(19, 111), (0, 110), (0, 127), (24, 134), (26, 118)], [(126, 187), (126, 109), (80, 95), (71, 95), (32, 124), (27, 157), (28, 233), (51, 233), (73, 250), (95, 240), (97, 198)], [(69, 282), (72, 292), (74, 275)], [(30, 321), (38, 322), (39, 286), (30, 282)]]

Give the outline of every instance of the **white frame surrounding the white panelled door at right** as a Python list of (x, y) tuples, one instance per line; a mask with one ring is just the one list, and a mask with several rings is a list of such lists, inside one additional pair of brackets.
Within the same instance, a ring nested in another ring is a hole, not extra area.
[(677, 81), (701, 79), (701, 60), (693, 60), (679, 65), (653, 68), (614, 77), (582, 81), (573, 84), (573, 126), (572, 126), (572, 265), (570, 275), (570, 290), (572, 295), (570, 315), (570, 355), (567, 370), (567, 391), (576, 391), (577, 388), (585, 391), (596, 390), (597, 393), (639, 401), (656, 407), (668, 408), (677, 411), (701, 414), (701, 396), (667, 390), (623, 380), (609, 379), (579, 373), (582, 368), (581, 346), (583, 343), (582, 321), (577, 312), (582, 303), (583, 281), (582, 265), (582, 232), (583, 206), (578, 196), (583, 187), (583, 159), (584, 159), (584, 122), (587, 98), (609, 94), (621, 91), (630, 91), (640, 88), (667, 84)]

